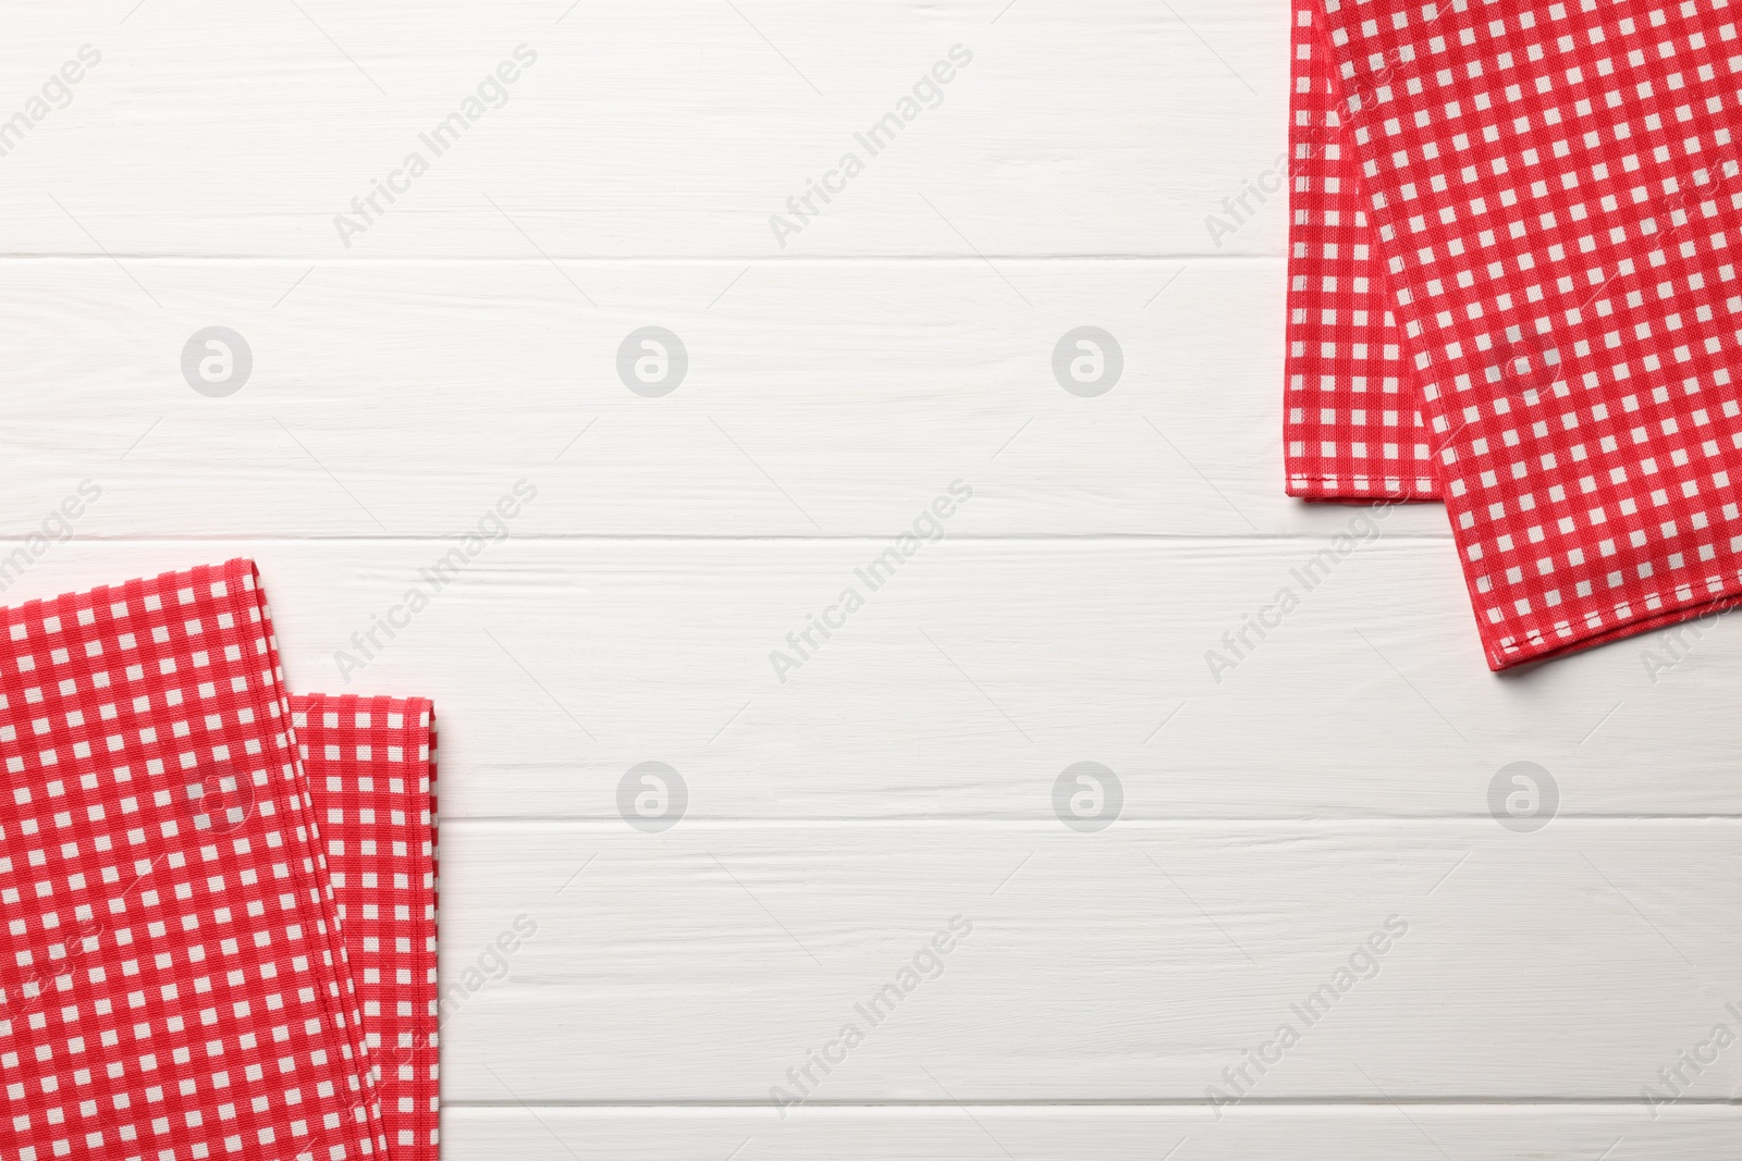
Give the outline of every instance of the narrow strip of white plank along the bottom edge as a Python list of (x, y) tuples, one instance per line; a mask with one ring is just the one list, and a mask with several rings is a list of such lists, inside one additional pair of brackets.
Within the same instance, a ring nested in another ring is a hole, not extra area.
[(803, 1109), (786, 1121), (744, 1109), (449, 1107), (442, 1152), (455, 1161), (1596, 1161), (1611, 1151), (1615, 1161), (1726, 1161), (1737, 1117), (1709, 1105), (1657, 1121), (1617, 1105), (1272, 1107), (1230, 1111), (1221, 1121), (1131, 1107)]

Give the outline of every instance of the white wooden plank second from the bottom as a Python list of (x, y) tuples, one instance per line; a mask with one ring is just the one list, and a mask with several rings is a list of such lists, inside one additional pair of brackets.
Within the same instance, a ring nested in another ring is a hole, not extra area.
[(458, 822), (442, 860), (462, 1102), (1639, 1100), (1685, 1051), (1688, 1097), (1742, 1083), (1735, 820)]

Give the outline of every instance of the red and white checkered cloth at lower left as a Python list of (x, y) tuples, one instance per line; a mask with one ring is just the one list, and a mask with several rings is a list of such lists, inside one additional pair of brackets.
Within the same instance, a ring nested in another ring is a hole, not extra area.
[(429, 701), (230, 560), (0, 609), (0, 1158), (436, 1156)]

